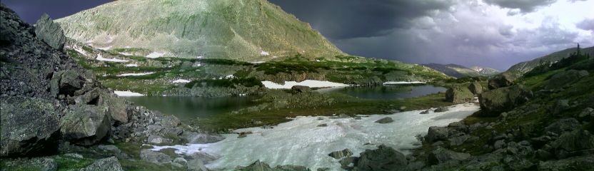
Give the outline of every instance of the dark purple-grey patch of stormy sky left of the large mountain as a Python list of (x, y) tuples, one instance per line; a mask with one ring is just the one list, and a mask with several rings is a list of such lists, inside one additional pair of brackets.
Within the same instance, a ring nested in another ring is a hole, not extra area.
[[(113, 1), (113, 0), (111, 0)], [(75, 14), (76, 12), (91, 9), (95, 6), (110, 2), (109, 0), (3, 0), (21, 19), (34, 24), (41, 14), (47, 13), (53, 19)]]

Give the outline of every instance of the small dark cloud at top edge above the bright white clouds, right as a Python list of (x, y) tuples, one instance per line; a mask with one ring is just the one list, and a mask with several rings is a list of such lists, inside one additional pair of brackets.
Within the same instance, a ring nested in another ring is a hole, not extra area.
[(557, 0), (485, 0), (488, 4), (494, 4), (508, 9), (520, 9), (523, 13), (532, 12), (540, 6), (548, 6)]

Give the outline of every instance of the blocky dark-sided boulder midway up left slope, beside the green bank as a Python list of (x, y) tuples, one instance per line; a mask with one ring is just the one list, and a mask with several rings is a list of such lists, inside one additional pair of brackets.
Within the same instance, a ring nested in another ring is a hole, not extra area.
[(58, 95), (73, 96), (76, 90), (83, 88), (84, 79), (73, 70), (54, 72), (50, 80), (50, 92), (54, 97)]

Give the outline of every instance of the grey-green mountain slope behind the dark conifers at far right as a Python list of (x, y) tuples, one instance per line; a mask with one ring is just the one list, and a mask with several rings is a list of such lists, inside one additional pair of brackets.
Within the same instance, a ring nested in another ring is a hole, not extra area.
[[(571, 53), (575, 53), (575, 51), (577, 51), (577, 48), (567, 48), (563, 51), (553, 52), (546, 56), (535, 58), (532, 61), (524, 61), (515, 64), (511, 66), (506, 72), (517, 73), (520, 75), (528, 73), (528, 71), (538, 66), (541, 63), (541, 61), (549, 61), (555, 63), (556, 61), (560, 61), (562, 58), (567, 58)], [(594, 55), (594, 46), (590, 48), (582, 48), (580, 51), (582, 51), (582, 53), (589, 53), (590, 55)]]

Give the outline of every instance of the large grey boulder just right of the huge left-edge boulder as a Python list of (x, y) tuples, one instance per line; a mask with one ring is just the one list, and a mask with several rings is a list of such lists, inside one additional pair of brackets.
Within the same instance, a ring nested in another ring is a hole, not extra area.
[(62, 137), (79, 145), (93, 145), (111, 130), (106, 108), (73, 105), (60, 120)]

